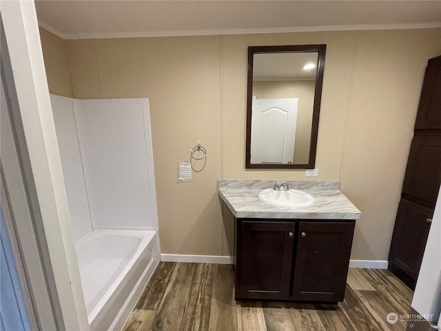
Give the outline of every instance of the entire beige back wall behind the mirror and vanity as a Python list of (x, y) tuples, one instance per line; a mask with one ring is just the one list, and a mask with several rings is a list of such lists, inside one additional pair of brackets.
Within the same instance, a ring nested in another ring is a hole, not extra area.
[[(441, 54), (440, 29), (67, 43), (74, 97), (150, 99), (162, 252), (203, 255), (232, 254), (217, 179), (306, 179), (305, 170), (245, 170), (247, 46), (326, 43), (313, 179), (340, 179), (363, 213), (351, 258), (387, 260), (424, 68)], [(207, 164), (192, 183), (178, 184), (177, 163), (198, 141)]]

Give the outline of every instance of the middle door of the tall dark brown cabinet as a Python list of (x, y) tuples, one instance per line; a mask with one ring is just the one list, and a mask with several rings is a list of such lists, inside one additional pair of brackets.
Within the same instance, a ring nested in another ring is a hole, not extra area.
[(415, 136), (411, 143), (402, 193), (433, 207), (441, 183), (441, 137)]

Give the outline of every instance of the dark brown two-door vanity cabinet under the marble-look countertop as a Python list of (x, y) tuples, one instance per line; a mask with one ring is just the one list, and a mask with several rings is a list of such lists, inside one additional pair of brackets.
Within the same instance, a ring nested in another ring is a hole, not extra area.
[(236, 299), (342, 301), (354, 225), (236, 219)]

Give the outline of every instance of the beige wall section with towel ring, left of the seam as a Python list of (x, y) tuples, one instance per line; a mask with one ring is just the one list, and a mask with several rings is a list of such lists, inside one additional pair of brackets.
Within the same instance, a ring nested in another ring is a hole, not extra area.
[[(76, 40), (68, 48), (74, 97), (149, 98), (161, 251), (221, 255), (219, 37)], [(178, 183), (178, 162), (198, 141), (205, 168)]]

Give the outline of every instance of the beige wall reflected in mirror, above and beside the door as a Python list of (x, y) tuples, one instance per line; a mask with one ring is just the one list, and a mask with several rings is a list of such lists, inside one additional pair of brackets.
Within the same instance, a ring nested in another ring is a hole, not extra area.
[(308, 163), (309, 161), (315, 92), (316, 81), (314, 79), (253, 82), (253, 95), (257, 99), (298, 98), (294, 163)]

